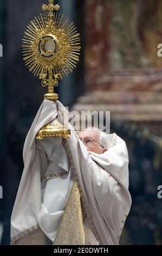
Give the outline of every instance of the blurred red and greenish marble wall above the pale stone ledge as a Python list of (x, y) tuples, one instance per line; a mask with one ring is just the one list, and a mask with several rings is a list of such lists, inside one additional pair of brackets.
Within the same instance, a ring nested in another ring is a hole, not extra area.
[(160, 0), (86, 0), (86, 90), (162, 92)]

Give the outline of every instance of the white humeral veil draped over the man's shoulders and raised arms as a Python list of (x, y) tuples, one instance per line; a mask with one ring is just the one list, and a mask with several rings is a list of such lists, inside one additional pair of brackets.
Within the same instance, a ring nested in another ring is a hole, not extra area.
[[(67, 112), (61, 102), (61, 113)], [(35, 227), (41, 211), (41, 180), (47, 170), (46, 156), (36, 147), (37, 132), (57, 117), (56, 103), (44, 100), (31, 125), (23, 149), (24, 170), (11, 216), (11, 239)], [(68, 119), (68, 115), (63, 117)], [(107, 151), (88, 152), (68, 123), (67, 139), (75, 178), (83, 193), (91, 222), (103, 245), (118, 245), (121, 230), (131, 208), (128, 191), (128, 152), (115, 133), (107, 135)], [(54, 145), (53, 145), (54, 147)]]

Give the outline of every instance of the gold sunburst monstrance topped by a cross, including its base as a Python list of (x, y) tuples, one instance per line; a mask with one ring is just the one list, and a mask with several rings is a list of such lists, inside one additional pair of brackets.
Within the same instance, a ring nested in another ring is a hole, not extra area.
[[(54, 92), (59, 78), (68, 76), (79, 61), (80, 34), (73, 22), (58, 13), (60, 7), (54, 5), (54, 0), (43, 4), (42, 9), (45, 12), (35, 17), (24, 33), (23, 60), (34, 76), (40, 77), (42, 86), (48, 86), (44, 99), (55, 101), (59, 98)], [(51, 136), (68, 138), (70, 131), (56, 119), (44, 126), (36, 138)]]

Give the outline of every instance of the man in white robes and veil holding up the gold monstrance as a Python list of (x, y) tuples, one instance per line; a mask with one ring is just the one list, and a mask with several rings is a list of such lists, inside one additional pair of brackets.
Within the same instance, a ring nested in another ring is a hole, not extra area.
[(103, 147), (99, 131), (77, 136), (70, 123), (70, 138), (36, 140), (58, 111), (68, 118), (44, 100), (25, 139), (11, 245), (119, 245), (131, 208), (126, 144), (114, 133)]

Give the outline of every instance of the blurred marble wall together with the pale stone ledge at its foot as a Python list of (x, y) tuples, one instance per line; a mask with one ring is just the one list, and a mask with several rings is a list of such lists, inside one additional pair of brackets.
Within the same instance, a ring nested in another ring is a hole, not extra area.
[(86, 0), (85, 94), (78, 111), (107, 110), (161, 135), (162, 2)]

